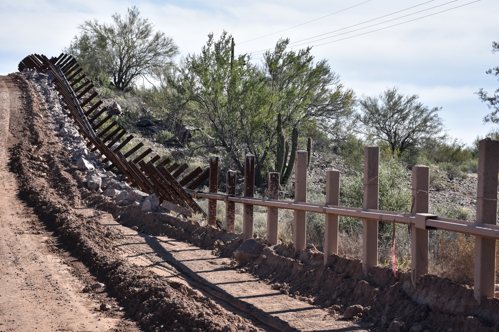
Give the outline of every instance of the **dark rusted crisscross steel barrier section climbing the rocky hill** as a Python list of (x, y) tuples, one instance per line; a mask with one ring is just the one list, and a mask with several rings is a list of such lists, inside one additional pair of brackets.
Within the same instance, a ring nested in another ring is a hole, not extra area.
[(161, 157), (154, 155), (153, 150), (144, 146), (144, 143), (132, 145), (134, 136), (127, 135), (127, 131), (116, 120), (113, 121), (113, 115), (107, 112), (107, 107), (101, 107), (103, 101), (96, 99), (98, 93), (93, 92), (93, 84), (86, 79), (72, 56), (62, 53), (57, 58), (48, 59), (44, 55), (29, 55), (19, 63), (19, 71), (24, 68), (53, 75), (52, 83), (66, 111), (75, 121), (80, 134), (87, 139), (91, 151), (99, 150), (103, 155), (101, 162), (109, 164), (107, 170), (115, 168), (125, 175), (130, 185), (147, 194), (156, 193), (164, 201), (163, 206), (169, 210), (188, 216), (193, 213), (206, 215), (186, 192), (186, 188), (199, 187), (208, 179), (210, 169), (203, 171), (198, 167), (182, 177), (189, 168), (187, 164), (173, 163), (168, 166), (171, 163), (169, 158), (160, 161)]

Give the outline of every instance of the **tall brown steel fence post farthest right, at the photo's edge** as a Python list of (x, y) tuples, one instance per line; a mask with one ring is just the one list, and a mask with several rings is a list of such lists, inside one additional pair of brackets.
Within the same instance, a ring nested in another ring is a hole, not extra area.
[[(477, 222), (496, 224), (498, 210), (499, 141), (479, 143)], [(495, 297), (496, 239), (475, 237), (475, 298)]]

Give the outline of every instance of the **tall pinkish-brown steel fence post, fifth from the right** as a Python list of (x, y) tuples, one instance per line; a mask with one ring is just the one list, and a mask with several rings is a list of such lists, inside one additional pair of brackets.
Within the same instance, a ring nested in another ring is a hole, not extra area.
[[(307, 151), (296, 151), (294, 162), (294, 201), (307, 201)], [(294, 252), (305, 249), (306, 246), (306, 216), (305, 211), (294, 211), (293, 244)]]

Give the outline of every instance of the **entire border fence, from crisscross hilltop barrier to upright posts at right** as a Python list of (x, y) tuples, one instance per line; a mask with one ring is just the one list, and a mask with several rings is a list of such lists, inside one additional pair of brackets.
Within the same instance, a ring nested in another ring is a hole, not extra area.
[[(75, 120), (80, 133), (87, 139), (92, 151), (99, 150), (110, 162), (108, 169), (116, 168), (126, 176), (131, 185), (142, 191), (156, 193), (167, 202), (170, 210), (191, 216), (199, 213), (208, 218), (208, 224), (216, 226), (217, 201), (225, 202), (226, 229), (234, 231), (235, 204), (243, 204), (243, 238), (253, 237), (253, 207), (267, 207), (267, 244), (277, 244), (278, 209), (294, 211), (293, 245), (295, 252), (305, 249), (306, 213), (325, 215), (324, 262), (330, 254), (338, 253), (338, 216), (359, 218), (363, 221), (362, 262), (364, 273), (378, 263), (378, 223), (396, 222), (411, 228), (411, 273), (416, 286), (420, 275), (428, 273), (429, 231), (435, 229), (475, 235), (474, 293), (477, 300), (483, 296), (495, 297), (496, 241), (499, 239), (498, 215), (498, 172), (499, 141), (486, 138), (479, 145), (479, 169), (477, 191), (477, 220), (462, 221), (441, 218), (429, 214), (429, 168), (415, 166), (412, 169), (412, 209), (410, 213), (378, 210), (379, 197), (379, 147), (368, 146), (364, 151), (364, 201), (363, 208), (339, 206), (340, 172), (326, 173), (326, 199), (324, 204), (306, 202), (307, 196), (307, 152), (297, 151), (295, 156), (294, 201), (278, 199), (279, 174), (268, 174), (268, 197), (255, 198), (254, 156), (245, 158), (244, 196), (236, 196), (236, 172), (227, 172), (227, 192), (218, 193), (219, 157), (212, 156), (209, 168), (196, 168), (181, 178), (187, 165), (167, 167), (171, 160), (152, 154), (151, 148), (143, 143), (128, 146), (133, 135), (128, 135), (116, 121), (105, 126), (112, 119), (106, 115), (106, 107), (99, 107), (102, 101), (95, 101), (97, 93), (86, 80), (76, 60), (66, 54), (50, 60), (43, 55), (24, 58), (18, 69), (36, 69), (54, 76), (53, 83), (61, 95), (66, 110)], [(92, 102), (93, 101), (93, 102)], [(92, 102), (92, 103), (91, 103)], [(92, 105), (92, 106), (89, 106)], [(100, 119), (100, 121), (98, 121)], [(121, 142), (121, 143), (120, 143)], [(118, 144), (116, 146), (116, 144)], [(138, 153), (138, 155), (137, 155)], [(137, 155), (135, 158), (132, 157)], [(150, 159), (146, 162), (146, 157)], [(128, 159), (127, 159), (128, 158)], [(209, 179), (209, 192), (195, 189)], [(195, 199), (208, 199), (206, 214)]]

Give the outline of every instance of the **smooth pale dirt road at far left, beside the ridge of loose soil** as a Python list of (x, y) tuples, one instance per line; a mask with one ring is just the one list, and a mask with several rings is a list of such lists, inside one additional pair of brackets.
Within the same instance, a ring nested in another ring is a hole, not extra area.
[(81, 293), (85, 285), (54, 253), (55, 239), (18, 197), (7, 149), (24, 139), (15, 132), (25, 98), (0, 76), (0, 331), (115, 331), (121, 320), (95, 311), (98, 301)]

